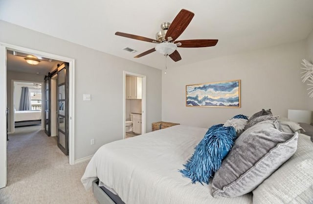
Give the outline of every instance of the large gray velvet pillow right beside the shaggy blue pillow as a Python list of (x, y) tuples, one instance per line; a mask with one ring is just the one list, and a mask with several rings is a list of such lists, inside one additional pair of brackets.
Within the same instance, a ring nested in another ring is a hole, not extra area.
[(298, 133), (278, 128), (277, 120), (262, 121), (236, 139), (214, 175), (213, 197), (237, 197), (252, 191), (293, 155)]

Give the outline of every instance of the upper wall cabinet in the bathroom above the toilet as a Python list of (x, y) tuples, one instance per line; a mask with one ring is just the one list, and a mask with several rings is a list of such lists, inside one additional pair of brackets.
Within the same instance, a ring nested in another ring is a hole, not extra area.
[(142, 79), (135, 76), (126, 76), (126, 99), (141, 99)]

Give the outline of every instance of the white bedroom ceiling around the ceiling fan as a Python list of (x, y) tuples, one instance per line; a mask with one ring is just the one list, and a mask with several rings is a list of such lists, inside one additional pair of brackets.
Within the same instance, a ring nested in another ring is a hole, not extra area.
[[(219, 39), (214, 47), (178, 48), (174, 67), (209, 58), (306, 39), (313, 30), (313, 0), (0, 0), (0, 19), (155, 68), (156, 44), (115, 36), (116, 31), (155, 38), (180, 9), (195, 17), (178, 38)], [(138, 52), (122, 50), (130, 47)]]

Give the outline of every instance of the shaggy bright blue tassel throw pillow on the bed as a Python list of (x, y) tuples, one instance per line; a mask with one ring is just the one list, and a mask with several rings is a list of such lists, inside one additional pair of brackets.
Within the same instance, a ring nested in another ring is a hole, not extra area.
[(233, 127), (223, 127), (223, 124), (209, 128), (204, 138), (195, 148), (195, 153), (179, 170), (183, 177), (191, 179), (192, 183), (199, 181), (208, 184), (227, 156), (236, 138)]

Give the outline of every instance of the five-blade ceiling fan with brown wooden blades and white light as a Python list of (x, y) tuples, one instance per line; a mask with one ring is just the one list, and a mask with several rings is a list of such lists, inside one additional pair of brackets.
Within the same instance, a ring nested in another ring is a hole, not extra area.
[(172, 23), (162, 23), (162, 30), (156, 33), (156, 40), (151, 38), (146, 38), (138, 35), (116, 32), (115, 35), (132, 38), (135, 40), (146, 41), (150, 43), (156, 43), (156, 47), (149, 49), (141, 54), (134, 56), (134, 58), (139, 58), (150, 54), (154, 51), (170, 56), (175, 62), (181, 60), (180, 54), (177, 51), (177, 47), (209, 47), (217, 44), (218, 40), (178, 40), (176, 39), (181, 35), (181, 33), (186, 29), (188, 24), (194, 17), (194, 13), (181, 9), (179, 14), (175, 17)]

